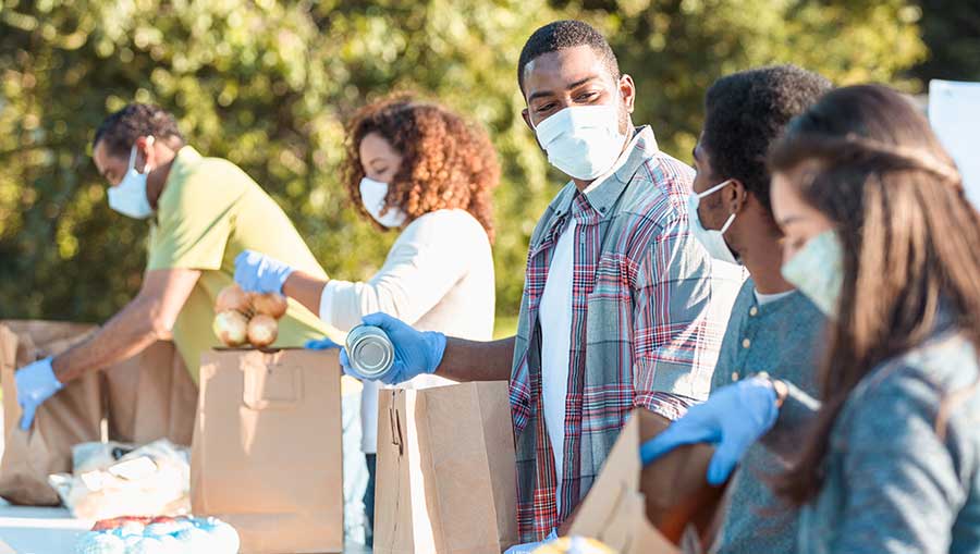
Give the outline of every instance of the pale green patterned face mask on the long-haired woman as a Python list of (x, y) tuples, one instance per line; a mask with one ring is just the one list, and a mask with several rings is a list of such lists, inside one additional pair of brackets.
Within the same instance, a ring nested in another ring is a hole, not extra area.
[(805, 294), (824, 315), (837, 317), (844, 283), (844, 249), (833, 231), (807, 241), (783, 263), (783, 279)]

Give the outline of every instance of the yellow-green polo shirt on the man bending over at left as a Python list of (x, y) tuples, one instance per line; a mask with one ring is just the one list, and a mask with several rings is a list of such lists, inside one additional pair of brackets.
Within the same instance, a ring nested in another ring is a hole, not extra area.
[[(220, 346), (211, 330), (215, 297), (232, 284), (235, 256), (245, 249), (327, 276), (286, 214), (252, 177), (228, 160), (204, 158), (189, 146), (181, 148), (150, 229), (147, 271), (185, 268), (201, 272), (173, 329), (173, 341), (195, 382), (200, 355)], [(338, 342), (343, 336), (290, 299), (272, 346), (303, 346), (323, 335)]]

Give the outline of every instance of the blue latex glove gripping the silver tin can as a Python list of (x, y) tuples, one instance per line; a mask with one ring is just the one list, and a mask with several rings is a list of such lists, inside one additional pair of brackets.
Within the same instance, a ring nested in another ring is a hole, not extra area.
[[(399, 384), (422, 373), (434, 373), (445, 353), (445, 335), (434, 331), (416, 331), (407, 323), (387, 313), (371, 313), (362, 320), (366, 325), (380, 328), (394, 345), (395, 356), (391, 369), (381, 376), (384, 384)], [(366, 378), (351, 367), (346, 350), (341, 350), (344, 373)]]

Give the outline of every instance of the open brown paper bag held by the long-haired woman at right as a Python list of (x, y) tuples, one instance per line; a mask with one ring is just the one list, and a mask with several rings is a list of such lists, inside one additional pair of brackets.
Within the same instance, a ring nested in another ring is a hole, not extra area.
[(682, 539), (685, 552), (708, 544), (724, 493), (706, 479), (714, 448), (679, 446), (640, 467), (640, 446), (669, 424), (645, 409), (630, 415), (568, 534), (599, 539), (622, 554), (679, 553)]

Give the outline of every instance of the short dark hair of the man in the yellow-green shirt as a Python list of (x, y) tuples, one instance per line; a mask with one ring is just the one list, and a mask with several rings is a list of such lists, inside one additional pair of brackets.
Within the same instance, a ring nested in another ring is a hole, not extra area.
[(184, 136), (181, 135), (173, 114), (159, 106), (130, 103), (102, 121), (96, 130), (91, 148), (94, 150), (101, 140), (109, 153), (128, 156), (136, 139), (149, 135), (158, 140), (176, 138), (180, 144), (184, 143)]

